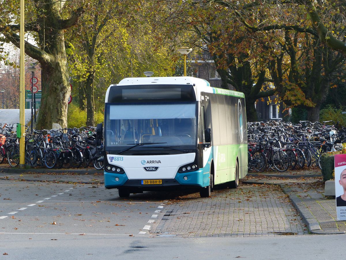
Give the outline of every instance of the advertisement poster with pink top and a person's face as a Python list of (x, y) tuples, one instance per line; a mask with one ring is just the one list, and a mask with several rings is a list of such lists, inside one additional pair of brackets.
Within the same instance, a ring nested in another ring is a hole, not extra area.
[(338, 220), (346, 220), (346, 154), (336, 154), (335, 167), (335, 200)]

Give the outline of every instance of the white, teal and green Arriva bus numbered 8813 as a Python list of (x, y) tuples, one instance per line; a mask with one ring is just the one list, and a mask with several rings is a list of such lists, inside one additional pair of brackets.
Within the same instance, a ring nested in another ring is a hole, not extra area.
[(104, 185), (121, 198), (237, 188), (248, 170), (244, 93), (194, 77), (125, 78), (107, 89), (103, 144)]

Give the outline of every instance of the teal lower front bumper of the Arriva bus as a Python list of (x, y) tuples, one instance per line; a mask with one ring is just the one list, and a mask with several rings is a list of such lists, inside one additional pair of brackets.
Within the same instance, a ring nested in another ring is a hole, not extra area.
[[(186, 177), (186, 180), (184, 179), (184, 177)], [(207, 185), (209, 185), (209, 172), (204, 172), (203, 169), (199, 169), (198, 171), (193, 172), (177, 173), (174, 179), (162, 179), (162, 184), (155, 185), (143, 185), (142, 180), (129, 180), (126, 173), (119, 174), (104, 172), (104, 187), (106, 189), (132, 187), (141, 190), (159, 190), (160, 187), (206, 187)]]

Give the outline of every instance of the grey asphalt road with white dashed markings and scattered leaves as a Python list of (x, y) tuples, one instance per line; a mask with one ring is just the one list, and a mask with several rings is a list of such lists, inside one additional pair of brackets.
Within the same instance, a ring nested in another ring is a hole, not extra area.
[[(222, 191), (219, 191), (222, 192)], [(182, 238), (151, 234), (163, 193), (118, 198), (102, 185), (0, 182), (1, 259), (337, 259), (345, 235)], [(5, 254), (6, 253), (6, 254)]]

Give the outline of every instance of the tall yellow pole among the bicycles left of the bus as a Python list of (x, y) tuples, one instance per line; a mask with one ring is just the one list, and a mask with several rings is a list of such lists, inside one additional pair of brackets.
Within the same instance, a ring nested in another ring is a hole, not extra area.
[(25, 86), (24, 86), (24, 0), (20, 0), (20, 85), (19, 85), (19, 123), (20, 152), (19, 165), (25, 167)]

